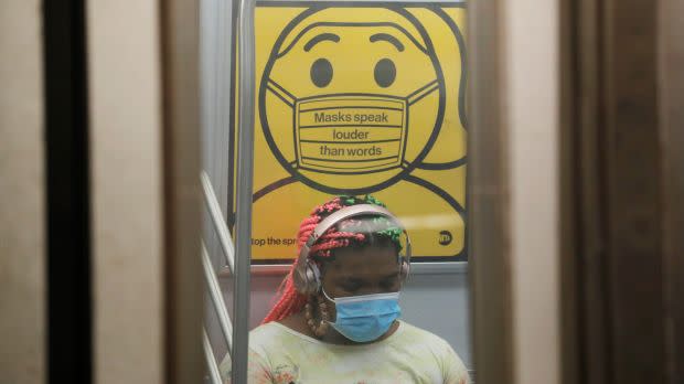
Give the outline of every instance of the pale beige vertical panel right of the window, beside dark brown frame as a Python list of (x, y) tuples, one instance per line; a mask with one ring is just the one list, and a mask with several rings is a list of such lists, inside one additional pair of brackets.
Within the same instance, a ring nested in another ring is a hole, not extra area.
[(555, 384), (560, 380), (558, 1), (504, 3), (515, 382)]

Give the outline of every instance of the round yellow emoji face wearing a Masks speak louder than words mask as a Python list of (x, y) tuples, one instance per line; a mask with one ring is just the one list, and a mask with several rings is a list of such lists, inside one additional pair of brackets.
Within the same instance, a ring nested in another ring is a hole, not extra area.
[(430, 38), (403, 9), (391, 14), (310, 9), (272, 47), (259, 88), (261, 127), (282, 167), (312, 188), (387, 188), (439, 134), (445, 84)]

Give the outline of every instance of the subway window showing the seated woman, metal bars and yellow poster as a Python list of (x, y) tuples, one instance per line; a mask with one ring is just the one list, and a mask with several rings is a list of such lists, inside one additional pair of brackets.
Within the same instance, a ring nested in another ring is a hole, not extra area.
[(253, 12), (201, 2), (207, 377), (471, 383), (466, 3)]

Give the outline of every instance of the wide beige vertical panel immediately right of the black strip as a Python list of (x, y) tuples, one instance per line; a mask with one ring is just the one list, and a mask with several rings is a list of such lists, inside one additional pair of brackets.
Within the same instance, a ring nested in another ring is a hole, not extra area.
[(87, 1), (94, 378), (163, 382), (159, 3)]

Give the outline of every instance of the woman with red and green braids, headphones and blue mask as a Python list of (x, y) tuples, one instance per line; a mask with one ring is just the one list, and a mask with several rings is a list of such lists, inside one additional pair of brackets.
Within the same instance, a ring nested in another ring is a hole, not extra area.
[(446, 341), (397, 320), (410, 242), (399, 256), (405, 231), (383, 206), (340, 196), (302, 222), (299, 258), (249, 333), (249, 383), (469, 383)]

